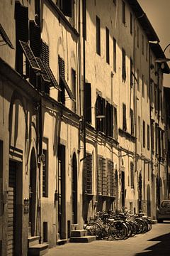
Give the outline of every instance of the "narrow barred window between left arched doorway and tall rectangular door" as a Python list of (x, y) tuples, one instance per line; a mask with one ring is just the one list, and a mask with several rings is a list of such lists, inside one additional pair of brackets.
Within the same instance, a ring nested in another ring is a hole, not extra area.
[(47, 182), (48, 182), (48, 172), (47, 172), (47, 150), (42, 149), (43, 159), (42, 159), (42, 196), (47, 197)]

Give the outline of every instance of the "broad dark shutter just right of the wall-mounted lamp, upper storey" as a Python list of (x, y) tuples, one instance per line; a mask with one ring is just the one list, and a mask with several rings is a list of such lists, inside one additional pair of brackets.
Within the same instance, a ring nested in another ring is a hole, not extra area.
[(113, 137), (113, 105), (106, 102), (106, 135)]

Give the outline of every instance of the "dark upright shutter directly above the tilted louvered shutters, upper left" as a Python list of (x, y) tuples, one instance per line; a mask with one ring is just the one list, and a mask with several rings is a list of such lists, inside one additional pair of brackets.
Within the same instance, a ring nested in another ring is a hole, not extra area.
[(30, 21), (30, 48), (33, 54), (40, 58), (40, 26), (35, 21)]

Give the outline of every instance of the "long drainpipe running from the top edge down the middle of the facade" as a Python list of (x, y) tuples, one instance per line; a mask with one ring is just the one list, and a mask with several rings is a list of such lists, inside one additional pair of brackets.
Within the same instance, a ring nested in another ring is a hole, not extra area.
[(86, 159), (86, 100), (85, 100), (85, 86), (86, 86), (86, 0), (83, 0), (83, 130), (84, 130), (84, 156), (80, 161)]

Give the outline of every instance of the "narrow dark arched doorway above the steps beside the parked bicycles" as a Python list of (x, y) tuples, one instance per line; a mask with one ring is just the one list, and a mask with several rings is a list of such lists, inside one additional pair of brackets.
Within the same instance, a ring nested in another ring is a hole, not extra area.
[(77, 157), (72, 158), (72, 223), (77, 223)]

